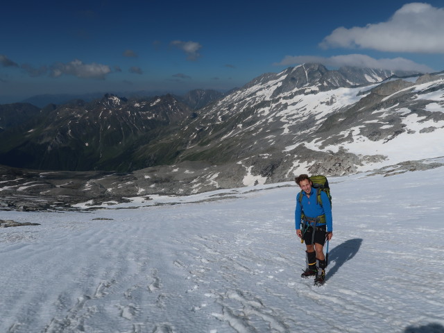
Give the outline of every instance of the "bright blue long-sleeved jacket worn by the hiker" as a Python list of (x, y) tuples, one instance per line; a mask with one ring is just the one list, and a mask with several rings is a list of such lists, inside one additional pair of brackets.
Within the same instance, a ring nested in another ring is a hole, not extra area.
[[(305, 191), (302, 191), (302, 207), (299, 203), (299, 194), (296, 196), (296, 210), (294, 212), (294, 221), (296, 223), (296, 229), (300, 229), (300, 215), (302, 213), (302, 208), (304, 214), (307, 217), (315, 219), (318, 216), (325, 214), (325, 221), (327, 222), (327, 231), (333, 231), (333, 216), (332, 216), (332, 205), (330, 205), (330, 200), (324, 191), (321, 191), (322, 206), (317, 203), (318, 189), (311, 187), (310, 198), (307, 197)], [(319, 225), (325, 225), (325, 223), (320, 223)]]

